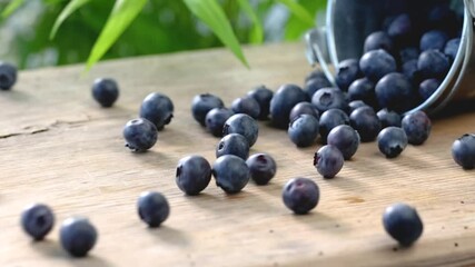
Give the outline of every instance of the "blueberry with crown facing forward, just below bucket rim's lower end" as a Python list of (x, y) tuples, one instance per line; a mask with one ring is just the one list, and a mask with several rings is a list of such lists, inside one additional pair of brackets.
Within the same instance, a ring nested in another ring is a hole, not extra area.
[(378, 148), (386, 158), (395, 158), (407, 147), (406, 132), (399, 127), (389, 126), (378, 135)]

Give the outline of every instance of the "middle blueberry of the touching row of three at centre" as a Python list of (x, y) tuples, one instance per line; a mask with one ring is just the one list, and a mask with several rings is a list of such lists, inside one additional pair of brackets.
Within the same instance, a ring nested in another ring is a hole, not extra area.
[(250, 170), (244, 159), (234, 155), (219, 157), (212, 165), (216, 185), (227, 194), (243, 190), (250, 178)]

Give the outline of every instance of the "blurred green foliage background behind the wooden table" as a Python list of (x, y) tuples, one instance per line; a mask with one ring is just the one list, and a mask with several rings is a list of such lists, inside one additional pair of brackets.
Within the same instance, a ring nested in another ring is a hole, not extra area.
[[(0, 11), (9, 0), (0, 0)], [(264, 28), (264, 42), (296, 41), (309, 29), (275, 0), (249, 0)], [(325, 0), (298, 0), (316, 22), (324, 18)], [(51, 28), (68, 1), (27, 0), (0, 20), (0, 60), (21, 69), (85, 62), (99, 37), (115, 0), (96, 0), (80, 8), (50, 40)], [(253, 22), (237, 0), (219, 0), (241, 43), (257, 43)], [(109, 49), (105, 59), (221, 47), (221, 42), (191, 14), (181, 0), (149, 0), (141, 13)]]

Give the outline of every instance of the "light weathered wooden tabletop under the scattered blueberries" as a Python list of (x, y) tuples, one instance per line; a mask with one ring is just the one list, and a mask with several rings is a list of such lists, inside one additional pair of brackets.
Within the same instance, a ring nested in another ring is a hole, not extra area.
[[(175, 185), (178, 160), (190, 154), (215, 160), (217, 138), (190, 115), (195, 95), (211, 92), (227, 105), (254, 86), (301, 85), (310, 70), (304, 44), (248, 48), (251, 70), (226, 50), (186, 52), (101, 63), (86, 77), (82, 66), (21, 72), (12, 91), (0, 92), (0, 266), (437, 266), (475, 263), (475, 172), (451, 157), (452, 142), (475, 131), (475, 113), (434, 121), (420, 147), (388, 160), (364, 144), (333, 180), (313, 167), (320, 145), (297, 149), (286, 131), (259, 122), (251, 152), (275, 157), (270, 185), (249, 184), (225, 195), (211, 181), (198, 197)], [(121, 96), (111, 109), (90, 96), (97, 77), (113, 77)], [(176, 112), (159, 141), (142, 155), (123, 147), (123, 125), (144, 97), (168, 95)], [(280, 190), (294, 177), (320, 187), (318, 207), (294, 216)], [(136, 211), (144, 190), (164, 192), (169, 219), (148, 229)], [(57, 226), (43, 243), (22, 233), (19, 216), (33, 201), (50, 205)], [(396, 201), (417, 207), (424, 234), (400, 249), (384, 231), (382, 212)], [(99, 231), (85, 259), (58, 244), (58, 226), (71, 215), (90, 218)]]

